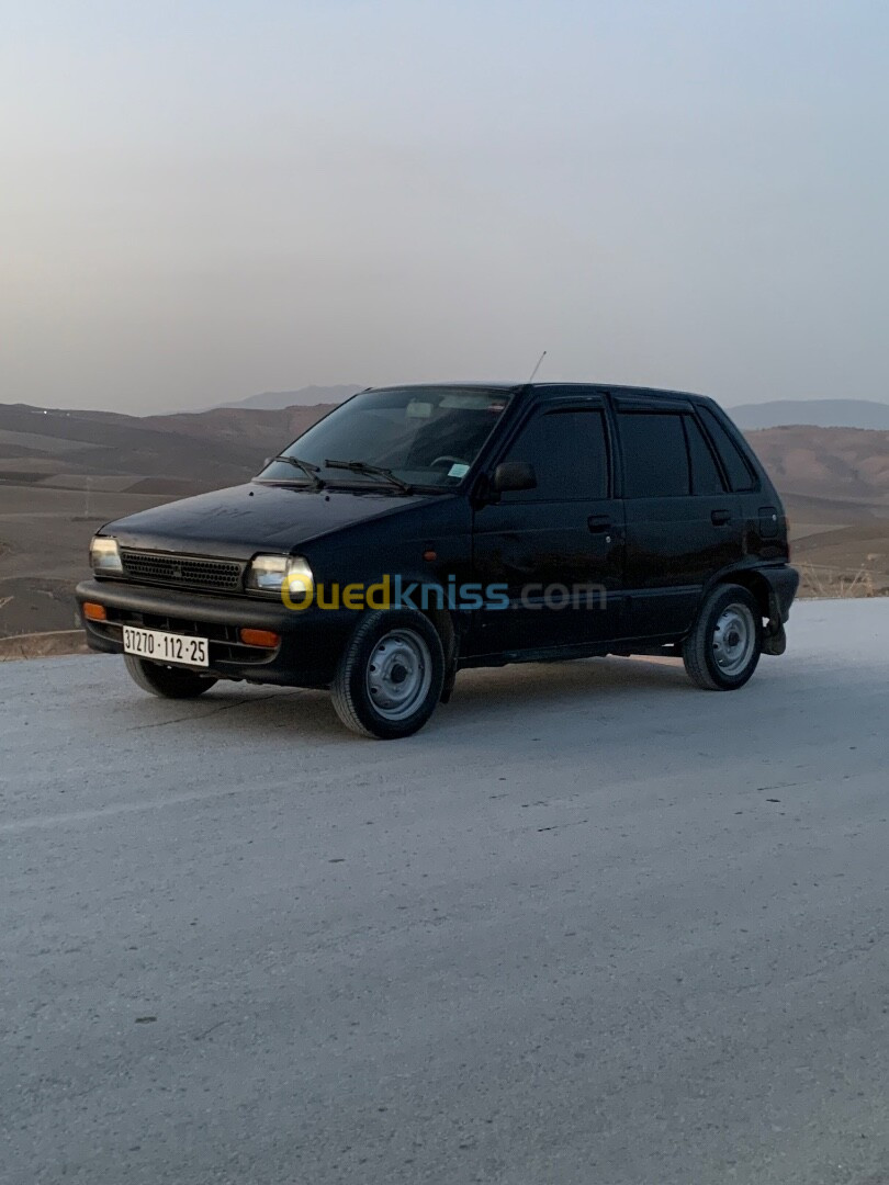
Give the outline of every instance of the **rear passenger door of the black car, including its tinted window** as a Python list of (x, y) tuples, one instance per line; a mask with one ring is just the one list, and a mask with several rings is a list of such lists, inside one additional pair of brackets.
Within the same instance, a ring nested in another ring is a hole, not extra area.
[(626, 511), (629, 638), (683, 633), (702, 587), (741, 558), (736, 495), (725, 489), (692, 405), (616, 399)]

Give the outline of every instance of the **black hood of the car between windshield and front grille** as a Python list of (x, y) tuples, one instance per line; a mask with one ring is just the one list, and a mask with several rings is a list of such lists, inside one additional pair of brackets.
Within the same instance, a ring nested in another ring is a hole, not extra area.
[(437, 494), (322, 489), (249, 482), (198, 494), (109, 523), (121, 546), (249, 559), (257, 551), (292, 551), (356, 523), (398, 514)]

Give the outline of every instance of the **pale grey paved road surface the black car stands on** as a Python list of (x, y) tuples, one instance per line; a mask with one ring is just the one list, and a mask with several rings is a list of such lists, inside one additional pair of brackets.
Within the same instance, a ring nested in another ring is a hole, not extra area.
[[(889, 1180), (889, 602), (426, 731), (0, 667), (0, 1178)], [(6, 1176), (4, 1177), (4, 1172)]]

